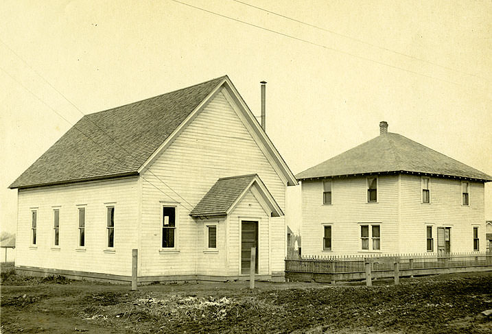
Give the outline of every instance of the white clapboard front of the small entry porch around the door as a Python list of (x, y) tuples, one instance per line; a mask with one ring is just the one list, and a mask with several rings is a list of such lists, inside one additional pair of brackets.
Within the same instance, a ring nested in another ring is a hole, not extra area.
[[(251, 191), (248, 191), (244, 198), (237, 204), (234, 211), (229, 215), (230, 239), (229, 239), (229, 276), (239, 274), (241, 262), (239, 254), (241, 252), (240, 224), (242, 220), (258, 222), (258, 274), (271, 274), (269, 270), (269, 220), (261, 205), (256, 200)], [(272, 227), (272, 228), (275, 228)], [(279, 228), (279, 226), (277, 226)]]

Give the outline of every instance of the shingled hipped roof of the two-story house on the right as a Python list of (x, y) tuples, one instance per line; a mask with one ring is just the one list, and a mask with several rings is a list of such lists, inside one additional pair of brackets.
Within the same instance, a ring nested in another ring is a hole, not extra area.
[(414, 172), (452, 176), (481, 182), (492, 181), (478, 169), (449, 158), (416, 141), (388, 132), (338, 154), (296, 175), (298, 180), (386, 172)]

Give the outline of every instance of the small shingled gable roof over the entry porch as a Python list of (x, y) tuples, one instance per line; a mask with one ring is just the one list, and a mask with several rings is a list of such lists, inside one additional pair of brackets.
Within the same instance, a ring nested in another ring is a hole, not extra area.
[(191, 210), (191, 217), (220, 217), (231, 213), (251, 187), (256, 187), (263, 201), (270, 207), (272, 217), (283, 215), (280, 206), (266, 189), (257, 174), (220, 178)]

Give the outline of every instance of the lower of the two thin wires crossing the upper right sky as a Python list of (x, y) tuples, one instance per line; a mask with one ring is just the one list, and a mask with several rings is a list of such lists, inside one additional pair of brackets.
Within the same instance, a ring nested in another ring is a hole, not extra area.
[(231, 16), (227, 16), (227, 15), (224, 15), (224, 14), (219, 14), (219, 13), (213, 12), (211, 10), (206, 10), (206, 9), (201, 8), (201, 7), (198, 7), (196, 5), (190, 5), (189, 3), (184, 3), (184, 2), (181, 2), (181, 1), (178, 1), (178, 0), (170, 0), (170, 1), (173, 1), (173, 2), (176, 2), (176, 3), (180, 3), (181, 5), (187, 5), (188, 7), (195, 8), (197, 10), (201, 10), (202, 12), (207, 12), (209, 14), (213, 14), (213, 15), (216, 15), (216, 16), (220, 16), (220, 17), (223, 17), (224, 19), (229, 19), (229, 20), (232, 20), (232, 21), (243, 23), (245, 25), (250, 25), (251, 27), (256, 27), (258, 29), (263, 29), (263, 30), (265, 30), (267, 32), (272, 32), (273, 34), (278, 34), (278, 35), (281, 35), (281, 36), (284, 36), (284, 37), (287, 37), (287, 38), (292, 38), (294, 40), (299, 40), (299, 41), (301, 41), (303, 43), (307, 43), (307, 44), (310, 44), (310, 45), (315, 45), (316, 47), (323, 47), (323, 49), (327, 49), (327, 50), (331, 50), (331, 51), (343, 53), (343, 54), (346, 54), (346, 55), (349, 55), (349, 56), (352, 56), (352, 57), (355, 57), (355, 58), (359, 58), (359, 59), (362, 59), (362, 60), (367, 60), (369, 62), (374, 62), (375, 64), (383, 65), (383, 66), (386, 66), (386, 67), (391, 67), (393, 69), (399, 69), (401, 71), (406, 71), (408, 73), (413, 73), (413, 74), (416, 74), (416, 75), (421, 75), (423, 77), (428, 77), (430, 79), (438, 80), (438, 81), (441, 81), (441, 82), (446, 82), (448, 84), (454, 84), (456, 86), (465, 86), (465, 85), (459, 84), (457, 82), (452, 82), (452, 81), (449, 81), (449, 80), (441, 79), (439, 77), (433, 77), (432, 75), (427, 75), (427, 74), (419, 73), (419, 72), (416, 72), (416, 71), (405, 69), (403, 67), (398, 67), (398, 66), (395, 66), (395, 65), (390, 65), (390, 64), (387, 64), (386, 62), (379, 62), (378, 60), (373, 60), (371, 58), (366, 58), (366, 57), (363, 57), (363, 56), (358, 56), (356, 54), (353, 54), (353, 53), (350, 53), (350, 52), (347, 52), (347, 51), (342, 51), (342, 50), (335, 49), (335, 48), (332, 48), (332, 47), (327, 47), (326, 45), (314, 43), (314, 42), (311, 42), (310, 40), (305, 40), (303, 38), (299, 38), (299, 37), (296, 37), (296, 36), (285, 34), (283, 32), (277, 32), (277, 30), (268, 29), (266, 27), (261, 27), (261, 25), (255, 25), (254, 23), (249, 23), (249, 22), (242, 21), (242, 20), (239, 20), (239, 19), (234, 19)]

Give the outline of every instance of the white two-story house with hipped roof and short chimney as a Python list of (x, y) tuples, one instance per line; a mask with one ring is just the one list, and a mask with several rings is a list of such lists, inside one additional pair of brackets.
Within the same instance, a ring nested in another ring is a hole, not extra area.
[(303, 254), (486, 249), (492, 176), (379, 124), (380, 135), (296, 175)]

